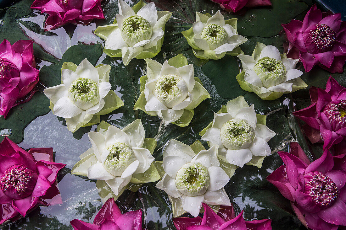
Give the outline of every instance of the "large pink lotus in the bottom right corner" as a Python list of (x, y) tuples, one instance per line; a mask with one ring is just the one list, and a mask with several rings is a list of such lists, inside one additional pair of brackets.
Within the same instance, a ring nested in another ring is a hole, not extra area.
[(346, 172), (333, 169), (331, 154), (325, 151), (310, 163), (298, 143), (291, 143), (290, 153), (278, 154), (284, 165), (267, 180), (291, 201), (304, 226), (313, 230), (346, 226)]

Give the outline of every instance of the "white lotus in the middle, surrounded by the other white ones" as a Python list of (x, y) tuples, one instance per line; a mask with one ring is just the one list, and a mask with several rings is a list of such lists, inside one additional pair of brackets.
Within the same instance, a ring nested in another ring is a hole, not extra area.
[(147, 75), (140, 78), (141, 94), (134, 109), (160, 117), (164, 125), (189, 125), (193, 109), (210, 98), (199, 78), (194, 78), (193, 65), (181, 54), (163, 65), (152, 59), (145, 61)]

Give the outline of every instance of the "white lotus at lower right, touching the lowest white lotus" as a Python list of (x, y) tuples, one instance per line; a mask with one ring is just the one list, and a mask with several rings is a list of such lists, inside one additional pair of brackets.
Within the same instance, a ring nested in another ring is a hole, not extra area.
[[(218, 146), (218, 154), (230, 164), (243, 167), (256, 158), (271, 154), (268, 141), (276, 135), (264, 124), (257, 122), (254, 105), (249, 106), (243, 96), (227, 103), (227, 112), (214, 113), (202, 140)], [(265, 116), (264, 116), (265, 118)], [(262, 159), (263, 160), (263, 159)], [(262, 165), (262, 164), (261, 164)]]

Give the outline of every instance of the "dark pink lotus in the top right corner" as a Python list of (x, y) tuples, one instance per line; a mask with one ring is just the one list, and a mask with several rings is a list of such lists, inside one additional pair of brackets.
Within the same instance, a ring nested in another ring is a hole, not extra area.
[(282, 27), (290, 43), (287, 56), (299, 58), (306, 72), (317, 64), (331, 73), (344, 71), (346, 21), (341, 21), (340, 13), (322, 13), (315, 4), (303, 21), (292, 20)]

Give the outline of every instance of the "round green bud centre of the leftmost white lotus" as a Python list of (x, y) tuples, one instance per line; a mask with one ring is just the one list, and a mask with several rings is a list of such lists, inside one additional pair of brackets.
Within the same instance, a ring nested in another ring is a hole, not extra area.
[(78, 78), (70, 86), (69, 97), (76, 106), (87, 110), (100, 103), (98, 84), (88, 78)]

